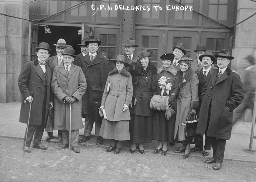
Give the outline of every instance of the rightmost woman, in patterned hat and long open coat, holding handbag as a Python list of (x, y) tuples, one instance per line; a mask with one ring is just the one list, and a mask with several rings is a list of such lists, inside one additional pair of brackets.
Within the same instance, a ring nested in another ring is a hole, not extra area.
[(174, 128), (174, 139), (177, 142), (182, 143), (182, 147), (176, 150), (176, 153), (181, 153), (183, 151), (183, 158), (189, 156), (190, 144), (192, 143), (193, 137), (185, 136), (185, 121), (187, 116), (191, 112), (196, 114), (196, 110), (199, 108), (198, 99), (198, 77), (196, 73), (190, 68), (193, 60), (189, 57), (182, 57), (179, 60), (180, 70), (179, 74), (179, 93), (177, 95), (177, 113)]

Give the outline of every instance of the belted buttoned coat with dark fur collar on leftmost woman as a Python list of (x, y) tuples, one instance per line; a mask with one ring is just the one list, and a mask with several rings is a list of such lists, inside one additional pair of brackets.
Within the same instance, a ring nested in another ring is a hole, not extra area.
[[(110, 84), (109, 92), (107, 92)], [(105, 106), (106, 116), (109, 121), (130, 120), (129, 108), (123, 111), (123, 106), (129, 106), (132, 99), (131, 74), (124, 68), (120, 73), (114, 68), (108, 76), (101, 106)]]

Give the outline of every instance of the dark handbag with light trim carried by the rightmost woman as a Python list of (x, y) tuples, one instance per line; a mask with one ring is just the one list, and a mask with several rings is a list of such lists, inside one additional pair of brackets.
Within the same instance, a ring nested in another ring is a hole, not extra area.
[(186, 124), (185, 124), (185, 135), (186, 137), (190, 136), (196, 136), (196, 130), (197, 130), (197, 124), (198, 124), (198, 118), (195, 114), (194, 117), (192, 117), (192, 113), (190, 112), (187, 116)]

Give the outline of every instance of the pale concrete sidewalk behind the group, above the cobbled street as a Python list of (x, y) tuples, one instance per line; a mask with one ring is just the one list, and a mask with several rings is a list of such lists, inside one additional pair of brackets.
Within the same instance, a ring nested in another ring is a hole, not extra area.
[[(20, 113), (20, 102), (10, 102), (10, 103), (0, 103), (0, 136), (1, 137), (10, 137), (10, 138), (20, 138), (23, 139), (26, 124), (19, 122), (19, 113)], [(226, 142), (225, 156), (224, 160), (239, 160), (239, 161), (249, 161), (256, 162), (256, 139), (253, 141), (253, 150), (249, 151), (249, 143), (250, 143), (250, 134), (251, 134), (251, 122), (243, 122), (239, 120), (235, 123), (232, 128), (231, 138)], [(93, 129), (94, 131), (94, 129)], [(79, 130), (80, 138), (83, 137), (84, 129)], [(92, 133), (91, 139), (79, 145), (96, 145), (96, 137), (94, 136), (94, 132)], [(45, 139), (47, 133), (44, 132), (43, 140)], [(51, 142), (59, 143), (57, 138), (57, 131), (53, 132), (55, 138), (51, 139)], [(110, 145), (109, 140), (105, 139), (102, 146), (102, 151), (105, 151), (106, 147)], [(20, 143), (22, 146), (22, 143)], [(145, 143), (144, 149), (146, 152), (154, 152), (155, 147), (157, 146), (157, 141), (152, 141), (152, 143)], [(175, 155), (183, 155), (174, 153), (181, 147), (181, 144), (175, 144), (175, 146), (168, 146), (168, 154)], [(191, 145), (191, 148), (194, 145)], [(122, 149), (129, 150), (130, 142), (125, 141), (122, 145)], [(138, 154), (138, 152), (136, 153)], [(190, 156), (197, 156), (199, 158), (203, 158), (202, 152), (190, 152)], [(212, 156), (212, 151), (209, 156)]]

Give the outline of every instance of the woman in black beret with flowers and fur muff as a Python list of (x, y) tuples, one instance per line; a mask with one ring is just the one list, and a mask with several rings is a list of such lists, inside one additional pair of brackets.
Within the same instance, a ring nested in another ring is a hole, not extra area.
[[(179, 78), (177, 75), (176, 68), (173, 67), (172, 62), (174, 55), (163, 54), (160, 57), (162, 59), (162, 67), (157, 70), (158, 79), (165, 76), (167, 81), (172, 85), (171, 90), (167, 94), (166, 88), (164, 88), (163, 96), (169, 96), (169, 104), (172, 109), (176, 112), (176, 96), (179, 91)], [(156, 88), (156, 95), (161, 95), (162, 88), (159, 86)], [(162, 154), (167, 153), (168, 141), (174, 145), (174, 125), (176, 115), (173, 115), (169, 120), (165, 117), (163, 111), (153, 111), (153, 128), (152, 128), (152, 140), (158, 140), (158, 146), (154, 153), (158, 153), (162, 149)]]

